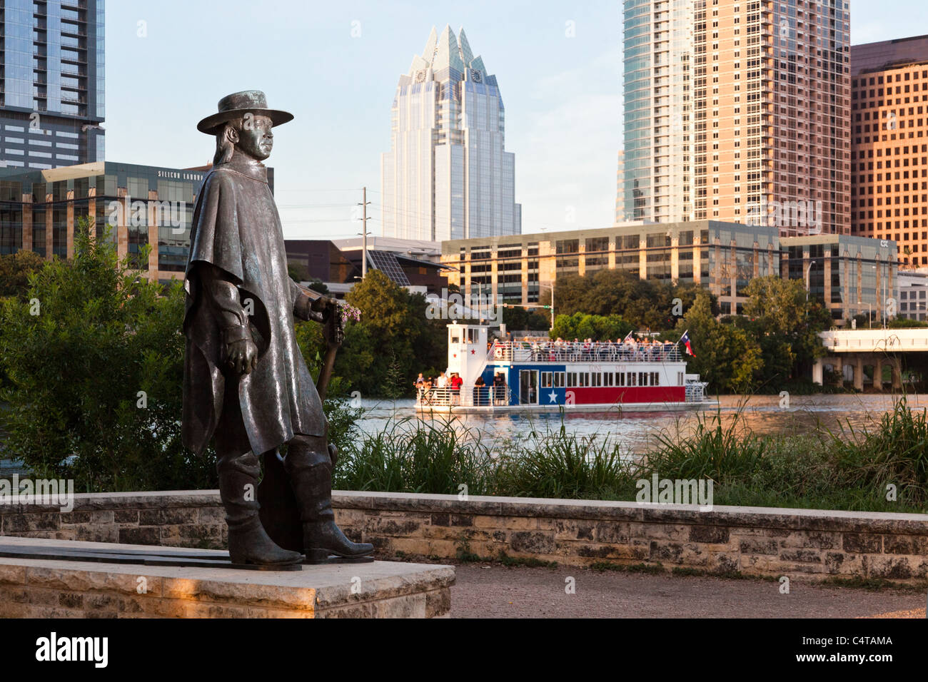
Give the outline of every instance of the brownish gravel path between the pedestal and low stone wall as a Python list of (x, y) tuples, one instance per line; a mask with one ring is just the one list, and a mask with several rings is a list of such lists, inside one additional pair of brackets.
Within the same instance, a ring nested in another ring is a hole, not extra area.
[[(462, 564), (453, 618), (924, 618), (923, 592), (803, 585), (790, 594), (767, 580), (598, 573), (575, 567)], [(567, 578), (575, 593), (567, 594)]]

